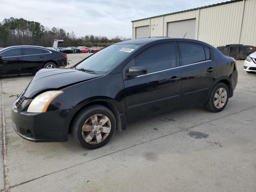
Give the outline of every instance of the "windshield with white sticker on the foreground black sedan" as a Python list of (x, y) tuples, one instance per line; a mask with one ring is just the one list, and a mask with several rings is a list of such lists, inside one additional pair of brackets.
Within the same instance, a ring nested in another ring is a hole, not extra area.
[(76, 69), (92, 70), (95, 73), (104, 74), (124, 61), (139, 46), (138, 44), (108, 46), (82, 61), (76, 66)]

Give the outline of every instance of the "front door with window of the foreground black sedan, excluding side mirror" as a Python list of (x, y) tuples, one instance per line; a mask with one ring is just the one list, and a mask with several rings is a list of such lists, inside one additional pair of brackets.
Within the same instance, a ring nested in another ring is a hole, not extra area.
[[(128, 121), (180, 106), (181, 71), (176, 43), (147, 48), (124, 68), (124, 90)], [(147, 74), (128, 78), (131, 66), (143, 66)]]

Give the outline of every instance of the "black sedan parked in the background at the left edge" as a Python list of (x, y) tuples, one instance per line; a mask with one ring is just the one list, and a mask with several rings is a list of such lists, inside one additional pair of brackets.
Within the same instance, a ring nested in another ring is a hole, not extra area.
[(0, 75), (36, 73), (42, 68), (64, 68), (67, 55), (39, 46), (12, 46), (0, 50)]

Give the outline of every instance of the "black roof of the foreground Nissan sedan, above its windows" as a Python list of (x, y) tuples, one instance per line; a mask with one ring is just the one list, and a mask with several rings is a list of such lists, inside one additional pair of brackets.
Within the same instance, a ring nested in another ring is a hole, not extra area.
[(194, 40), (194, 39), (186, 39), (186, 38), (170, 38), (170, 37), (148, 37), (148, 38), (138, 38), (138, 39), (133, 39), (133, 40), (127, 40), (127, 41), (122, 41), (118, 42), (116, 44), (148, 44), (151, 42), (155, 43), (162, 43), (162, 42), (191, 42), (191, 43), (199, 43), (203, 44), (205, 46), (210, 46), (210, 44), (207, 44), (202, 41)]

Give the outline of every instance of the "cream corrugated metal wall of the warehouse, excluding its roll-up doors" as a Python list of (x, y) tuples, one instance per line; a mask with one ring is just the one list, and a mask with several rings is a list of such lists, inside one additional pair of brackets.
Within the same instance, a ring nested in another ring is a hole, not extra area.
[(256, 46), (256, 0), (243, 0), (177, 14), (132, 22), (135, 28), (150, 26), (150, 36), (167, 36), (168, 22), (196, 19), (195, 39), (212, 46), (246, 44)]

